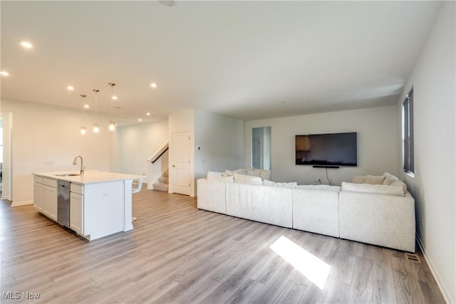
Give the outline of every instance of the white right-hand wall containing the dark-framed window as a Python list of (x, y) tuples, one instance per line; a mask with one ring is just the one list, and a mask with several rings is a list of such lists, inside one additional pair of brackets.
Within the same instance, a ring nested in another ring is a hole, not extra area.
[(420, 244), (448, 303), (456, 303), (455, 27), (455, 1), (446, 1), (399, 100), (413, 86), (415, 177), (403, 179), (415, 197)]

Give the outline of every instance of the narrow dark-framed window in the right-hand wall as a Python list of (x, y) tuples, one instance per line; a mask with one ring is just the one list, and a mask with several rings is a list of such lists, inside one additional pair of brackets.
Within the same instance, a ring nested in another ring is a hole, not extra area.
[(403, 114), (403, 160), (404, 171), (413, 175), (415, 171), (413, 157), (413, 88), (402, 105)]

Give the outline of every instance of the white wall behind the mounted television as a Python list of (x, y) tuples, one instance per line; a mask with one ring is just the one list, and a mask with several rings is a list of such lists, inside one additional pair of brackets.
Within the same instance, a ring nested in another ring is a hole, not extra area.
[(354, 174), (398, 174), (396, 106), (328, 112), (245, 122), (245, 166), (252, 164), (252, 128), (271, 126), (271, 179), (275, 182), (328, 184), (325, 169), (295, 164), (295, 135), (358, 132), (358, 167), (328, 169), (333, 184)]

